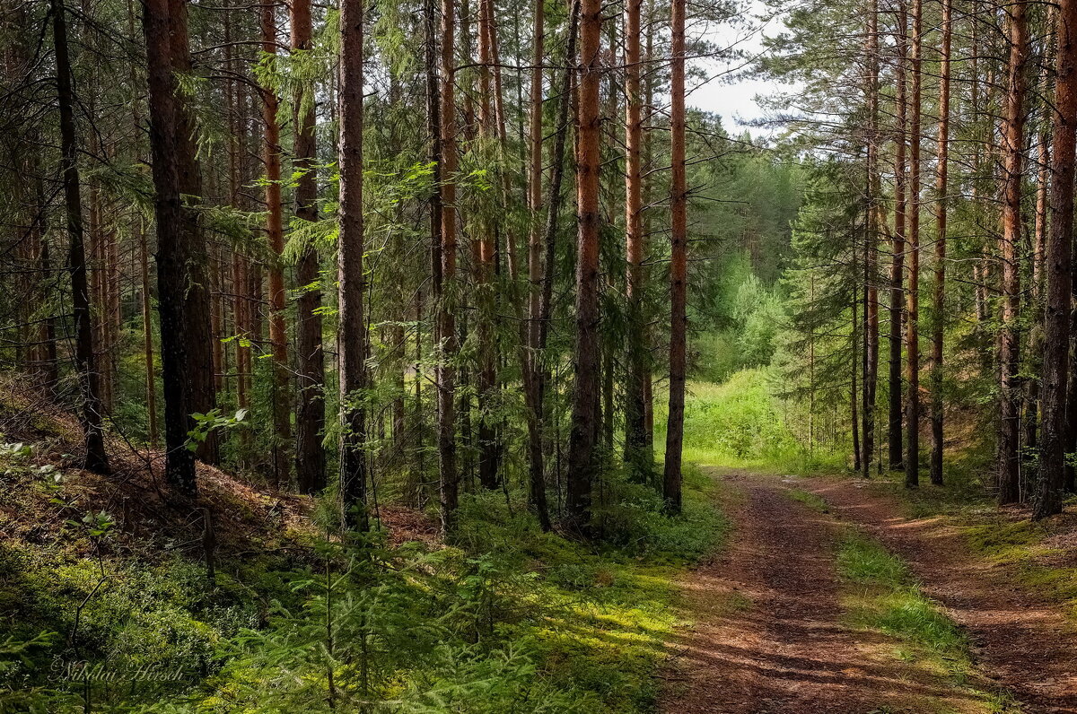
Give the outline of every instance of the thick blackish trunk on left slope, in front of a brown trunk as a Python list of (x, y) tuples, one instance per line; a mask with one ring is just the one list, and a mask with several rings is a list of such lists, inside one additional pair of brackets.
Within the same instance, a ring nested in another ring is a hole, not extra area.
[(173, 489), (195, 495), (195, 458), (186, 448), (193, 423), (194, 386), (187, 354), (185, 293), (190, 280), (190, 246), (181, 225), (183, 205), (177, 153), (176, 76), (169, 47), (169, 0), (143, 5), (146, 85), (150, 90), (150, 148), (157, 224), (157, 310), (160, 314), (160, 367), (165, 395), (165, 477)]

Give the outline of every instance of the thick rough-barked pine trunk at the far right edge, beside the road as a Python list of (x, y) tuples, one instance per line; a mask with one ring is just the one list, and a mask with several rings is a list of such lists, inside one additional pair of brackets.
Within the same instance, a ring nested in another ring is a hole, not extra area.
[(1047, 317), (1044, 324), (1044, 423), (1033, 518), (1062, 512), (1065, 486), (1066, 383), (1073, 277), (1074, 157), (1077, 142), (1077, 0), (1058, 13), (1051, 221), (1047, 242)]

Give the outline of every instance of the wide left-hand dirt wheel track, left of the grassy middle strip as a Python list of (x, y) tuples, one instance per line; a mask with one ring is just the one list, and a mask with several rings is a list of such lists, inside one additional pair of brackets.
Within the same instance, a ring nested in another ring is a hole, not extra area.
[(732, 491), (724, 507), (733, 541), (686, 583), (698, 622), (665, 675), (661, 711), (982, 711), (938, 673), (898, 660), (892, 644), (842, 622), (833, 516), (792, 500), (778, 478), (723, 478)]

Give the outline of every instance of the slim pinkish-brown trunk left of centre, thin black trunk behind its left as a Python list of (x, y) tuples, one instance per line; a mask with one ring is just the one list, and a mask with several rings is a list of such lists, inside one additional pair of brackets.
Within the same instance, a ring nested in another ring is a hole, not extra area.
[(460, 473), (457, 471), (456, 368), (449, 361), (457, 353), (456, 309), (457, 275), (457, 113), (456, 57), (452, 0), (442, 0), (442, 281), (437, 303), (437, 453), (440, 470), (442, 530), (452, 533), (459, 504)]

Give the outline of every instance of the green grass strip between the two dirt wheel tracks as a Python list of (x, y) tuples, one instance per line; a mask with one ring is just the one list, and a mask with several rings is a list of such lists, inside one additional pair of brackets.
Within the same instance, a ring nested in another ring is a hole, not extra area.
[[(943, 677), (955, 694), (974, 699), (977, 711), (1017, 711), (1005, 692), (977, 686), (968, 638), (924, 594), (900, 558), (850, 528), (839, 545), (837, 564), (852, 625), (890, 638), (896, 659)], [(933, 705), (932, 711), (952, 710)]]

